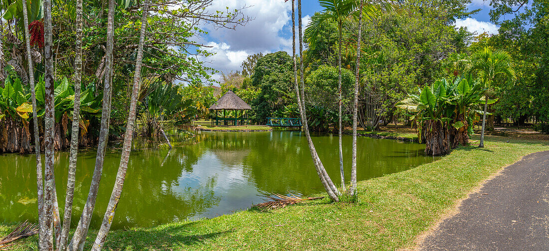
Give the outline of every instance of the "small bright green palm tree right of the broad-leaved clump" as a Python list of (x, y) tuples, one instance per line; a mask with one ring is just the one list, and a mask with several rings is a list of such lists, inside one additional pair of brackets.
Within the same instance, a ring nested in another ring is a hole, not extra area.
[[(492, 82), (494, 82), (495, 78), (499, 75), (505, 76), (510, 82), (513, 82), (515, 79), (511, 55), (503, 50), (492, 50), (489, 47), (484, 47), (473, 54), (472, 65), (470, 67), (470, 71), (476, 71), (478, 73), (478, 76), (482, 79), (486, 89), (490, 88)], [(484, 128), (486, 124), (487, 108), (488, 97), (485, 95), (479, 147), (484, 147)]]

